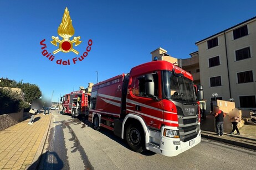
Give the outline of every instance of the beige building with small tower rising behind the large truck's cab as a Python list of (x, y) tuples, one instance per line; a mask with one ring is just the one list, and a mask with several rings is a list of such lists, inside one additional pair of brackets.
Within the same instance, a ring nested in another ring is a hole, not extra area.
[(167, 50), (159, 47), (158, 49), (150, 52), (152, 61), (157, 57), (157, 60), (164, 60), (171, 62), (181, 68), (190, 72), (194, 78), (194, 84), (200, 84), (200, 70), (199, 70), (199, 60), (198, 51), (192, 52), (191, 57), (188, 59), (177, 59), (167, 54)]

